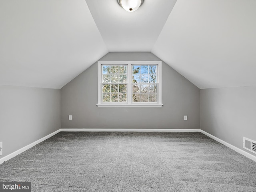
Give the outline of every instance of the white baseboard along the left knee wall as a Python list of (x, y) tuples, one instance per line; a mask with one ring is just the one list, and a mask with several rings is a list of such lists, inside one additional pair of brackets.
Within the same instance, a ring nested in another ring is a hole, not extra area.
[(11, 153), (11, 154), (9, 154), (9, 155), (3, 157), (3, 158), (1, 158), (1, 159), (0, 159), (0, 164), (2, 164), (3, 162), (5, 162), (5, 161), (7, 161), (7, 160), (9, 160), (9, 159), (11, 159), (11, 158), (13, 158), (13, 157), (15, 157), (16, 155), (18, 155), (18, 154), (20, 154), (20, 153), (22, 153), (22, 152), (28, 150), (29, 148), (34, 147), (36, 144), (38, 144), (38, 143), (40, 143), (40, 142), (42, 142), (42, 141), (44, 141), (44, 140), (46, 140), (46, 139), (48, 139), (48, 138), (54, 136), (54, 135), (57, 134), (58, 132), (60, 132), (60, 129), (57, 130), (57, 131), (55, 131), (55, 132), (53, 132), (53, 133), (51, 133), (51, 134), (49, 134), (49, 135), (47, 135), (47, 136), (45, 136), (45, 137), (43, 137), (43, 138), (41, 138), (41, 139), (39, 139), (39, 140), (37, 140), (37, 141), (35, 141), (35, 142), (33, 142), (33, 143), (31, 143), (31, 144), (29, 144), (29, 145), (27, 145), (27, 146), (25, 146), (25, 147), (22, 147), (21, 149), (19, 149), (19, 150), (17, 150), (17, 151), (14, 151), (13, 153)]

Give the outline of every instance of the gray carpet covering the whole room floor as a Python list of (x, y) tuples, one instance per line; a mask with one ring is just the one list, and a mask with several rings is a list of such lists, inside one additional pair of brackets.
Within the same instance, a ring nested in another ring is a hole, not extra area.
[(0, 165), (33, 192), (256, 192), (256, 162), (201, 133), (60, 132)]

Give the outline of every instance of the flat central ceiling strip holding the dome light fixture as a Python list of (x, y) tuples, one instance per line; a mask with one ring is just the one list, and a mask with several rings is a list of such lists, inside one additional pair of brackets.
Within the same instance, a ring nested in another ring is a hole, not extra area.
[(134, 12), (117, 0), (86, 0), (109, 52), (150, 52), (176, 0), (145, 0)]

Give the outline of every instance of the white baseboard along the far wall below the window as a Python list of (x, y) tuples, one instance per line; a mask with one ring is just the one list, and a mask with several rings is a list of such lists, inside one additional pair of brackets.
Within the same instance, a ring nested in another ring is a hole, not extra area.
[(200, 132), (200, 129), (60, 129), (67, 132)]

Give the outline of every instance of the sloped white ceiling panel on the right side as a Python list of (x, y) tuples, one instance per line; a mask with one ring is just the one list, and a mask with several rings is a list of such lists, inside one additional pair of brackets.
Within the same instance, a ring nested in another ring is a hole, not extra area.
[(256, 0), (178, 0), (152, 53), (201, 89), (256, 86)]

